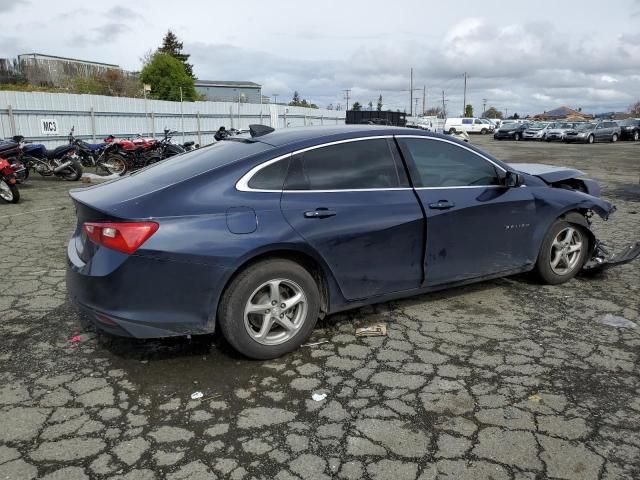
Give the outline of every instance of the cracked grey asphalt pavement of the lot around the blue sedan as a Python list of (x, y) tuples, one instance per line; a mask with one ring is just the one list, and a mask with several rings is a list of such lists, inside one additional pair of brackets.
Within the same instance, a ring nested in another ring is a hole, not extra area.
[[(599, 237), (640, 238), (640, 144), (472, 140), (586, 171), (618, 207)], [(332, 315), (327, 343), (256, 362), (86, 325), (65, 298), (77, 186), (34, 178), (0, 204), (0, 479), (640, 478), (640, 328), (599, 323), (640, 324), (640, 262)], [(386, 337), (355, 337), (376, 322)]]

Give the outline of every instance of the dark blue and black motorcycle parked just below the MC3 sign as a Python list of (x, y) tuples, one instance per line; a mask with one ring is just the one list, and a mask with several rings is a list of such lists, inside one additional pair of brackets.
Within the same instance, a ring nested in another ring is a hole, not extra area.
[(25, 143), (22, 161), (27, 169), (35, 170), (43, 177), (53, 175), (73, 182), (82, 177), (82, 164), (76, 151), (76, 146), (71, 144), (49, 150), (41, 143)]

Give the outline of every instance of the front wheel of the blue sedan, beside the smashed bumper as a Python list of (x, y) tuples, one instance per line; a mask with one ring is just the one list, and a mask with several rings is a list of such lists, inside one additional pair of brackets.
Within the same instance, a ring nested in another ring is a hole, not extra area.
[[(571, 252), (576, 247), (579, 249)], [(584, 265), (588, 251), (589, 237), (584, 227), (556, 220), (542, 241), (536, 272), (549, 285), (568, 282)]]

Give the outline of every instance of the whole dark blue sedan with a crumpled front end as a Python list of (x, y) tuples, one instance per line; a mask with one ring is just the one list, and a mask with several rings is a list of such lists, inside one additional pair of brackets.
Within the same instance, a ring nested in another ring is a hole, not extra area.
[(326, 314), (529, 270), (557, 284), (606, 264), (589, 219), (613, 207), (598, 194), (576, 170), (507, 165), (427, 132), (252, 126), (72, 191), (68, 290), (115, 334), (219, 327), (243, 354), (273, 358)]

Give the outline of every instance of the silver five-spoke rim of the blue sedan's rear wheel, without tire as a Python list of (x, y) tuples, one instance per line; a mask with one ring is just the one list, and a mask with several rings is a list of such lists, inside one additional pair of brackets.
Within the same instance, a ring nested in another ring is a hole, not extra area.
[(307, 317), (307, 297), (292, 280), (277, 278), (256, 288), (244, 308), (247, 333), (262, 345), (293, 338)]

